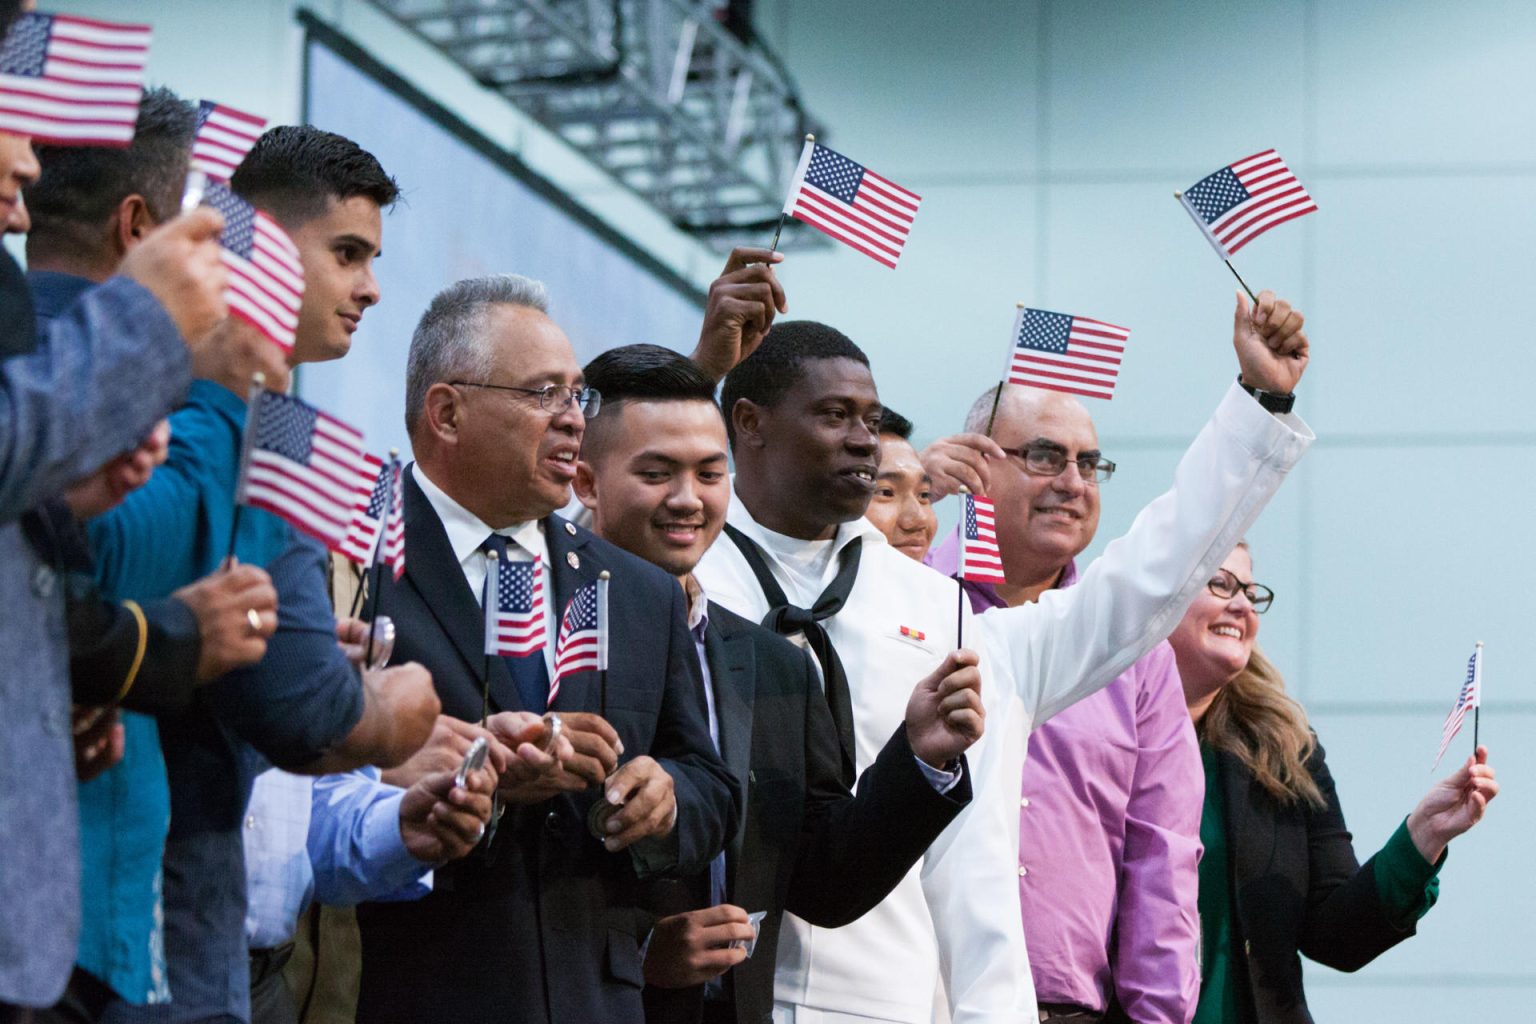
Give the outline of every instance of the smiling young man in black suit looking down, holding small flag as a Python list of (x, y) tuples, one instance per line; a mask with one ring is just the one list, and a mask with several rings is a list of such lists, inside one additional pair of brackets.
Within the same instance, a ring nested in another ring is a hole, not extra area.
[[(587, 384), (604, 416), (584, 438), (576, 494), (599, 536), (682, 583), (711, 732), (746, 783), (745, 821), (713, 870), (653, 887), (647, 1019), (766, 1021), (783, 910), (826, 927), (859, 918), (969, 801), (960, 757), (982, 732), (980, 674), (958, 652), (919, 683), (849, 794), (809, 654), (710, 603), (691, 576), (730, 502), (714, 382), (674, 352), (627, 345), (593, 359)], [(763, 912), (751, 960), (748, 910)]]

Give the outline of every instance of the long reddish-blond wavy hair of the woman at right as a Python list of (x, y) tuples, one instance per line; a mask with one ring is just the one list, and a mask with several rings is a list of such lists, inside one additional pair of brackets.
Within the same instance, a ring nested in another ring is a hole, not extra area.
[(1286, 692), (1284, 677), (1258, 645), (1236, 679), (1217, 691), (1195, 732), (1207, 746), (1243, 761), (1278, 803), (1324, 804), (1307, 771), (1318, 745), (1307, 712)]

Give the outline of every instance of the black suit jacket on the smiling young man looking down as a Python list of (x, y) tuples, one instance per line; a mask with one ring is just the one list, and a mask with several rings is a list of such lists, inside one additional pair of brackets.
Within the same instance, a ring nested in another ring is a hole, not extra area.
[[(897, 728), (856, 797), (842, 783), (837, 729), (806, 651), (714, 603), (703, 649), (720, 754), (746, 785), (745, 820), (725, 849), (727, 900), (768, 912), (751, 960), (727, 975), (736, 1019), (756, 1024), (773, 1016), (783, 912), (822, 927), (869, 912), (971, 801), (969, 769), (937, 792)], [(651, 895), (657, 915), (710, 906), (708, 875), (659, 883)], [(647, 987), (645, 1019), (697, 1021), (702, 993)]]

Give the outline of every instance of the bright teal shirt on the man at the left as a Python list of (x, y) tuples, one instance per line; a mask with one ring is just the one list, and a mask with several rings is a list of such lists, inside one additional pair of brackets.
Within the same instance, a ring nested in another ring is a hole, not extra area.
[[(97, 579), (114, 599), (157, 600), (214, 573), (229, 554), (246, 402), (195, 381), (170, 416), (170, 451), (149, 482), (88, 525)], [(266, 565), (287, 527), (246, 508), (235, 553)], [(123, 760), (78, 788), (80, 904), (77, 963), (124, 1001), (164, 1003), (160, 861), (170, 824), (170, 788), (154, 718), (123, 712)]]

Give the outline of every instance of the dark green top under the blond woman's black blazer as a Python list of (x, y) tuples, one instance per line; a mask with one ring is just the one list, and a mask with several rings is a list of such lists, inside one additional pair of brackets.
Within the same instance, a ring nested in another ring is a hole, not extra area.
[[(1232, 913), (1232, 860), (1227, 849), (1226, 794), (1217, 775), (1217, 752), (1200, 746), (1206, 769), (1206, 804), (1200, 815), (1200, 841), (1206, 852), (1200, 860), (1200, 1004), (1193, 1024), (1233, 1024), (1244, 1021), (1241, 999), (1241, 964), (1235, 915)], [(1439, 900), (1439, 863), (1430, 864), (1413, 846), (1407, 818), (1396, 827), (1372, 863), (1376, 897), (1387, 918), (1407, 929), (1422, 918)]]

